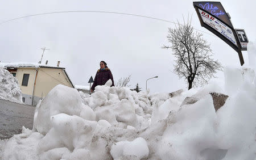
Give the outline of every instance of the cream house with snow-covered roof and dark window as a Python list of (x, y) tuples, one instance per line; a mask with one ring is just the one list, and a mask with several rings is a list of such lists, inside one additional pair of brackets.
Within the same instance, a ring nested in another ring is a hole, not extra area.
[(41, 64), (2, 64), (18, 79), (23, 103), (35, 106), (56, 85), (74, 88), (65, 68)]

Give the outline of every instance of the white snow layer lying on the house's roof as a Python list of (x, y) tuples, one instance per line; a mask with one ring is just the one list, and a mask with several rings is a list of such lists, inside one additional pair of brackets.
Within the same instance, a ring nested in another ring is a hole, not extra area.
[(37, 63), (26, 63), (26, 62), (16, 62), (16, 63), (0, 63), (0, 67), (3, 68), (61, 68), (53, 65), (37, 64)]

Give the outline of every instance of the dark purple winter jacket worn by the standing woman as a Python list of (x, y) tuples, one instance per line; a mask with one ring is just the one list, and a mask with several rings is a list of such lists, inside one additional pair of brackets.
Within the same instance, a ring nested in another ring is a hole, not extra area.
[(98, 85), (105, 85), (105, 83), (107, 81), (109, 81), (109, 79), (112, 80), (111, 87), (115, 86), (114, 85), (114, 80), (113, 80), (113, 75), (112, 75), (110, 69), (109, 68), (105, 68), (105, 70), (98, 69), (98, 71), (97, 71), (97, 73), (95, 75), (95, 78), (94, 78), (93, 85), (92, 85), (92, 87), (90, 89), (94, 91), (96, 86), (98, 86)]

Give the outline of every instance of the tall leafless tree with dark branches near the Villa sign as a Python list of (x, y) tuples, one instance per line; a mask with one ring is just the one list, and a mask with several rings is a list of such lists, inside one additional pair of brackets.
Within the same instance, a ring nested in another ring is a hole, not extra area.
[(211, 58), (210, 44), (203, 39), (202, 33), (193, 30), (191, 21), (169, 28), (167, 38), (171, 46), (164, 45), (163, 48), (173, 50), (176, 58), (174, 72), (188, 82), (188, 90), (192, 84), (203, 86), (214, 77), (216, 70), (222, 70), (221, 64)]

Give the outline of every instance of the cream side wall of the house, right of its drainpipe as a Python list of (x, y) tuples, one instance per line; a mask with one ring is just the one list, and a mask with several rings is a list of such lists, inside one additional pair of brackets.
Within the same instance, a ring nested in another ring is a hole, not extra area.
[(59, 84), (73, 87), (62, 69), (39, 68), (38, 76), (36, 78), (34, 96), (44, 98), (48, 92), (53, 89), (53, 87)]

